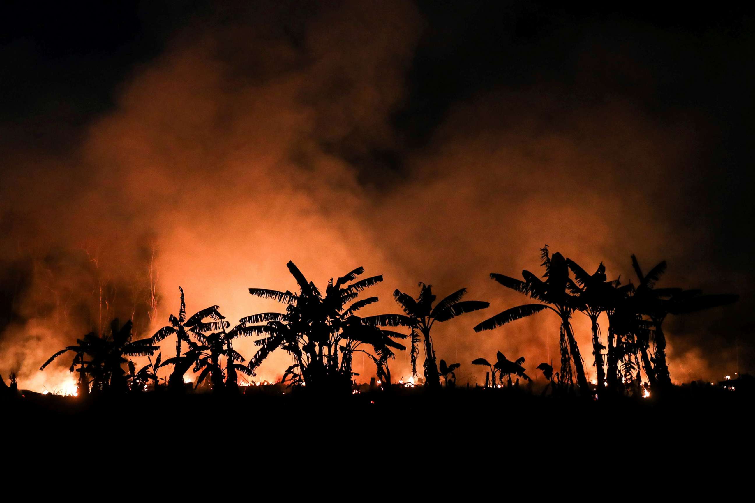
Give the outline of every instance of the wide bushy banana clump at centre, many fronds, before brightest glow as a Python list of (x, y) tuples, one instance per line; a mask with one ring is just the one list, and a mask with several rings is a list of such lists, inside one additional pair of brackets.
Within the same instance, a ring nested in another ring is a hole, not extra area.
[(244, 336), (260, 336), (255, 341), (260, 349), (249, 360), (249, 370), (254, 372), (270, 353), (282, 348), (294, 357), (297, 376), (308, 388), (346, 391), (350, 390), (354, 375), (353, 353), (364, 351), (359, 348), (361, 345), (371, 346), (377, 360), (384, 361), (393, 355), (390, 348), (405, 349), (391, 339), (405, 338), (405, 334), (379, 328), (406, 326), (399, 314), (381, 314), (369, 319), (354, 314), (377, 302), (377, 297), (356, 299), (362, 290), (383, 281), (382, 276), (355, 281), (364, 272), (364, 268), (356, 268), (337, 280), (331, 279), (323, 296), (294, 262), (289, 261), (286, 266), (299, 286), (298, 293), (249, 289), (251, 295), (286, 305), (285, 313), (254, 314), (239, 322), (239, 332)]

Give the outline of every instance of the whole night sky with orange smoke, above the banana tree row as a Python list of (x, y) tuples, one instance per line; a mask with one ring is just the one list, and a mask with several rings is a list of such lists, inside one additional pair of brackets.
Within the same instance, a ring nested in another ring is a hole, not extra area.
[(439, 358), (460, 382), (498, 349), (534, 369), (556, 320), (471, 327), (522, 300), (488, 273), (535, 271), (543, 244), (609, 278), (636, 253), (668, 261), (659, 285), (738, 293), (669, 319), (670, 371), (753, 372), (750, 12), (111, 3), (0, 7), (0, 373), (48, 385), (48, 353), (102, 317), (150, 335), (179, 285), (189, 311), (263, 311), (246, 289), (294, 290), (288, 259), (318, 284), (383, 274), (383, 312), (394, 288), (469, 287), (492, 307), (442, 327)]

